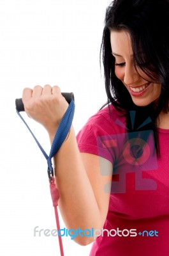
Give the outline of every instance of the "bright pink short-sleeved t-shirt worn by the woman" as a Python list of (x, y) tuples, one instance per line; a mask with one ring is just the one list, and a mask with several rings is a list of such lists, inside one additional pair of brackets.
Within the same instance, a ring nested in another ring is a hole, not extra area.
[(154, 150), (153, 131), (131, 131), (128, 138), (127, 129), (126, 118), (110, 105), (110, 111), (98, 111), (77, 134), (80, 152), (113, 164), (103, 227), (108, 232), (94, 241), (90, 256), (168, 256), (169, 129), (158, 129), (161, 159)]

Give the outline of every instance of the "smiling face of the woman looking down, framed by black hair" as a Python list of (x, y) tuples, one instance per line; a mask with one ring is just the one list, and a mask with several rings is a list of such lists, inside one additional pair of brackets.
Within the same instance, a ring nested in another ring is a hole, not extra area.
[(147, 82), (146, 79), (149, 81), (151, 79), (139, 68), (138, 72), (141, 76), (136, 72), (129, 33), (111, 31), (110, 41), (112, 54), (115, 57), (115, 76), (126, 86), (135, 105), (147, 106), (157, 100), (161, 93), (161, 84)]

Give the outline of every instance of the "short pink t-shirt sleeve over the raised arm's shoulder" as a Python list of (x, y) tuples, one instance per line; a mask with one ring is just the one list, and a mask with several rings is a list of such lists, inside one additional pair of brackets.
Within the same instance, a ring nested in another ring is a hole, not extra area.
[(112, 116), (108, 108), (98, 111), (96, 115), (89, 118), (77, 134), (80, 152), (95, 154), (114, 163), (118, 154), (117, 140), (115, 140), (118, 129), (115, 120), (117, 120), (115, 111)]

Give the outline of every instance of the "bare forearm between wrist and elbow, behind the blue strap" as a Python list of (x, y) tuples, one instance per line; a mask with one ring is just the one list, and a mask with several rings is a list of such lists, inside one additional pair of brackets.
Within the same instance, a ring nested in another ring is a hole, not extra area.
[(59, 209), (68, 228), (101, 228), (94, 191), (85, 172), (75, 132), (70, 135), (54, 157), (55, 180), (59, 189)]

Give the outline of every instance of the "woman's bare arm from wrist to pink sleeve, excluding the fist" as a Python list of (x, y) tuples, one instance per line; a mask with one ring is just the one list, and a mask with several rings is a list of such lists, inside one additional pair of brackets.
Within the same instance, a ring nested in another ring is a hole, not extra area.
[[(105, 193), (104, 186), (111, 182), (112, 176), (101, 175), (98, 156), (79, 152), (72, 130), (54, 157), (60, 194), (59, 209), (68, 228), (101, 229), (107, 216), (110, 196)], [(105, 161), (104, 168), (112, 171), (112, 164)], [(92, 241), (92, 237), (77, 237), (77, 243), (80, 244)]]

